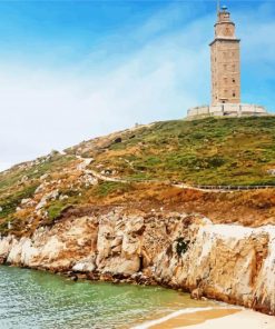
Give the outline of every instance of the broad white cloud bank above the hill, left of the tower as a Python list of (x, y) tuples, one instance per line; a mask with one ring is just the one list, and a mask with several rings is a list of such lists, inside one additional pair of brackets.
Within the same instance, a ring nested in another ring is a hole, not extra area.
[(135, 122), (183, 118), (204, 99), (196, 87), (205, 82), (208, 54), (186, 47), (198, 30), (150, 41), (105, 72), (94, 67), (81, 76), (84, 63), (71, 72), (0, 68), (0, 159), (31, 159)]

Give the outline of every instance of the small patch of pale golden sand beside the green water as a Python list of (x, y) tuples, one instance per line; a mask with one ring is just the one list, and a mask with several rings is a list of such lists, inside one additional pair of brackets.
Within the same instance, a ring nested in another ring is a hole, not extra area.
[(248, 309), (222, 308), (183, 313), (149, 321), (137, 328), (150, 329), (275, 329), (275, 317)]

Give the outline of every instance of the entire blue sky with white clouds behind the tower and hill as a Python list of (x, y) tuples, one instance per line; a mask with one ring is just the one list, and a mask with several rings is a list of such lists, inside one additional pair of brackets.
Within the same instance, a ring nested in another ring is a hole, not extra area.
[[(242, 101), (275, 111), (275, 2), (220, 1)], [(215, 1), (1, 1), (0, 169), (209, 102)]]

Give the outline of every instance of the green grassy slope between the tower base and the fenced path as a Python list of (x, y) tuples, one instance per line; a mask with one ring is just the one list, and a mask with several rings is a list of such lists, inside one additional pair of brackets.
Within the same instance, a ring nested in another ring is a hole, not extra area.
[[(132, 149), (135, 152), (132, 153)], [(100, 154), (121, 178), (194, 185), (274, 185), (275, 117), (157, 122)], [(121, 166), (121, 152), (130, 166)], [(116, 156), (116, 152), (118, 156)]]

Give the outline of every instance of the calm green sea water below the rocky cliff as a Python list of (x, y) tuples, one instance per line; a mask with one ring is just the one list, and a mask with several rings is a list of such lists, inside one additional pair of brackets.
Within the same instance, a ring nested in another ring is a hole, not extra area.
[(130, 328), (187, 307), (209, 303), (156, 287), (71, 282), (0, 266), (0, 328)]

